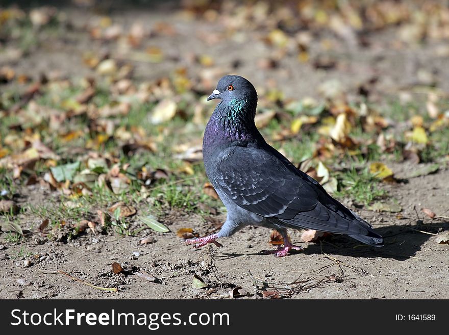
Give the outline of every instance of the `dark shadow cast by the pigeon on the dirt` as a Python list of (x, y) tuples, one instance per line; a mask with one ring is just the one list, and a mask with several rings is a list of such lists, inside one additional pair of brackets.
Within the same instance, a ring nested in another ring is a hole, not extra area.
[[(415, 226), (392, 225), (376, 228), (376, 233), (384, 237), (385, 245), (381, 248), (371, 247), (366, 244), (359, 244), (356, 240), (342, 235), (334, 235), (330, 239), (326, 238), (320, 243), (310, 243), (304, 246), (304, 250), (289, 252), (295, 254), (317, 254), (328, 253), (332, 255), (352, 256), (352, 257), (383, 257), (405, 261), (410, 257), (415, 257), (421, 249), (421, 245), (429, 239), (434, 239), (439, 229), (449, 229), (449, 221), (433, 222)], [(427, 233), (422, 233), (426, 231)], [(292, 241), (294, 242), (294, 241)], [(355, 242), (355, 243), (354, 243)], [(436, 242), (435, 242), (436, 243)], [(264, 255), (263, 251), (252, 253), (223, 253), (218, 256), (221, 259), (232, 259), (244, 255)], [(271, 256), (272, 255), (267, 255)], [(419, 257), (416, 257), (419, 258)]]

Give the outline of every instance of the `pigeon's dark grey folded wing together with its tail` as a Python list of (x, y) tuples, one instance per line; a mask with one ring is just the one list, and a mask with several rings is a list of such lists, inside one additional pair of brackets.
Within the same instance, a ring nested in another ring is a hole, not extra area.
[(269, 146), (233, 146), (222, 151), (212, 178), (215, 187), (247, 211), (277, 218), (290, 227), (347, 234), (370, 245), (382, 244), (382, 237), (369, 223)]

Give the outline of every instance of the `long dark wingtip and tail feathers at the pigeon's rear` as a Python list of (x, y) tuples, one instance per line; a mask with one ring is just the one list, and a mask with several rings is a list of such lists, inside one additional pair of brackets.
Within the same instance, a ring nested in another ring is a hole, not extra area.
[(297, 213), (293, 218), (283, 218), (282, 215), (277, 217), (291, 228), (307, 228), (344, 234), (374, 247), (383, 246), (382, 236), (377, 234), (368, 222), (338, 201), (332, 200), (332, 203), (327, 205), (318, 202), (313, 210)]

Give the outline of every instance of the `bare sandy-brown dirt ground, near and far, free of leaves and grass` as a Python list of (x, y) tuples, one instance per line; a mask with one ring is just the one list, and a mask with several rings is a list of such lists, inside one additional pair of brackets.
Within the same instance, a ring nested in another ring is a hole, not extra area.
[[(69, 8), (70, 21), (82, 27), (90, 19), (90, 12)], [(213, 22), (192, 21), (180, 18), (170, 10), (133, 10), (110, 13), (114, 21), (130, 24), (141, 21), (151, 26), (162, 19), (176, 27), (180, 34), (173, 39), (155, 36), (148, 44), (157, 44), (173, 56), (163, 64), (133, 62), (134, 79), (148, 80), (167, 73), (183, 62), (179, 50), (204, 50), (216, 60), (222, 73), (234, 72), (262, 86), (274, 80), (290, 97), (316, 96), (319, 85), (330, 79), (338, 79), (348, 91), (354, 91), (373, 75), (379, 78), (372, 92), (375, 99), (396, 95), (416, 81), (417, 69), (434, 73), (438, 87), (449, 90), (449, 66), (447, 57), (439, 57), (435, 49), (439, 44), (413, 45), (391, 48), (392, 32), (382, 31), (371, 37), (369, 49), (348, 49), (347, 41), (336, 43), (332, 50), (338, 60), (337, 68), (320, 71), (300, 66), (293, 57), (283, 58), (276, 70), (263, 71), (254, 61), (269, 56), (270, 50), (263, 42), (223, 40), (214, 45), (195, 38), (201, 34), (220, 31)], [(193, 37), (193, 38), (192, 38)], [(14, 61), (14, 68), (33, 73), (58, 70), (69, 78), (95, 75), (82, 64), (85, 49), (101, 52), (104, 45), (92, 41), (77, 31), (65, 39), (40, 44), (32, 54)], [(120, 50), (111, 51), (117, 58), (126, 58)], [(201, 51), (200, 51), (201, 52)], [(324, 53), (319, 46), (312, 46), (311, 53)], [(2, 56), (4, 57), (4, 56)], [(239, 60), (239, 67), (231, 64)], [(11, 60), (7, 60), (11, 61)], [(189, 71), (199, 71), (196, 64)], [(214, 81), (220, 77), (213, 75)], [(391, 163), (397, 178), (416, 169), (410, 163)], [(361, 246), (345, 237), (332, 237), (322, 244), (300, 242), (299, 231), (290, 231), (293, 242), (304, 247), (278, 259), (261, 253), (272, 249), (267, 242), (269, 230), (245, 228), (235, 236), (220, 241), (222, 248), (208, 246), (192, 250), (177, 237), (179, 228), (191, 226), (201, 235), (213, 231), (212, 220), (223, 221), (226, 213), (218, 213), (209, 221), (199, 215), (186, 214), (173, 209), (160, 218), (170, 233), (161, 234), (145, 230), (136, 237), (120, 237), (109, 231), (94, 235), (86, 233), (70, 241), (46, 241), (36, 231), (40, 221), (29, 213), (21, 214), (22, 229), (26, 238), (20, 242), (1, 241), (0, 246), (0, 297), (1, 298), (52, 298), (52, 299), (132, 299), (132, 298), (226, 298), (229, 291), (242, 287), (243, 298), (262, 296), (261, 290), (278, 291), (280, 297), (295, 299), (396, 299), (396, 298), (449, 298), (449, 248), (437, 244), (435, 236), (449, 229), (449, 169), (441, 165), (436, 173), (409, 178), (396, 184), (387, 184), (389, 197), (397, 200), (401, 213), (376, 213), (356, 209), (360, 216), (371, 222), (385, 238), (380, 249)], [(19, 205), (45, 203), (59, 195), (41, 189), (39, 184), (21, 186), (17, 193)], [(353, 208), (351, 199), (343, 199)], [(430, 219), (420, 212), (430, 208), (440, 215)], [(416, 209), (416, 211), (415, 211)], [(138, 209), (139, 210), (139, 209)], [(29, 230), (27, 230), (29, 229)], [(420, 231), (419, 231), (420, 230)], [(425, 233), (422, 233), (424, 231)], [(154, 237), (155, 242), (140, 245), (143, 236)], [(24, 260), (31, 264), (24, 267)], [(111, 264), (117, 262), (125, 272), (114, 274)], [(60, 273), (70, 275), (103, 288), (118, 288), (118, 292), (98, 290), (76, 282)], [(140, 277), (138, 272), (156, 277), (153, 281)], [(192, 288), (193, 275), (202, 277), (208, 285), (205, 289)], [(19, 281), (18, 281), (19, 280)]]

